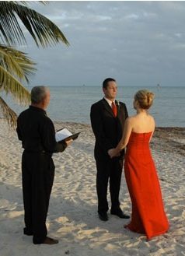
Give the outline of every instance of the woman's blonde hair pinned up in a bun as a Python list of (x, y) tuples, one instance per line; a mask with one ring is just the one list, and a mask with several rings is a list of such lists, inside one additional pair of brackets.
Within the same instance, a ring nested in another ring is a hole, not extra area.
[(149, 92), (147, 89), (140, 89), (137, 93), (135, 93), (134, 100), (138, 101), (139, 107), (148, 109), (152, 106), (154, 93)]

